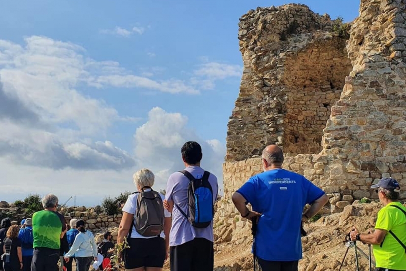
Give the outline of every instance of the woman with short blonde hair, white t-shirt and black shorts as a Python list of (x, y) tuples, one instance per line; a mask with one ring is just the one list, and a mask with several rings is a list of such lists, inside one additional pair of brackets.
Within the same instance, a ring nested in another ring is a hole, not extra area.
[[(171, 214), (163, 209), (159, 213), (162, 215), (163, 229), (157, 232), (154, 236), (142, 235), (137, 228), (136, 214), (139, 214), (139, 196), (151, 192), (154, 198), (162, 202), (165, 197), (161, 193), (152, 190), (155, 176), (146, 168), (139, 170), (133, 175), (133, 182), (137, 187), (138, 192), (128, 196), (127, 201), (122, 209), (123, 216), (118, 228), (117, 244), (124, 242), (124, 238), (128, 236), (127, 242), (130, 248), (125, 249), (124, 267), (128, 271), (161, 271), (163, 263), (168, 256), (169, 249), (169, 231), (171, 229)], [(159, 198), (162, 201), (159, 200)], [(140, 198), (140, 200), (142, 200)], [(151, 200), (151, 198), (147, 199)], [(157, 205), (158, 207), (159, 205)], [(140, 208), (142, 209), (142, 208)], [(157, 208), (158, 209), (158, 208)], [(142, 210), (141, 210), (142, 211)], [(131, 229), (131, 230), (130, 230)]]

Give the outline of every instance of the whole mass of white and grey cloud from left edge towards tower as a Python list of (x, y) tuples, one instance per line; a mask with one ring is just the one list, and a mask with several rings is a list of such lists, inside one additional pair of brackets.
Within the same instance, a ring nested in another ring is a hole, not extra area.
[(46, 37), (28, 37), (22, 45), (0, 40), (0, 186), (15, 195), (52, 189), (67, 199), (76, 193), (88, 204), (105, 194), (133, 190), (133, 171), (147, 166), (156, 173), (160, 189), (169, 174), (183, 167), (180, 148), (189, 140), (201, 144), (202, 166), (221, 182), (224, 146), (199, 138), (188, 128), (186, 116), (152, 109), (134, 134), (129, 153), (106, 133), (117, 121), (141, 119), (121, 116), (104, 100), (80, 91), (90, 85), (196, 94), (225, 78), (224, 73), (216, 77), (208, 72), (191, 72), (196, 82), (148, 78), (164, 71), (152, 67), (134, 75), (118, 62), (89, 58), (81, 46)]

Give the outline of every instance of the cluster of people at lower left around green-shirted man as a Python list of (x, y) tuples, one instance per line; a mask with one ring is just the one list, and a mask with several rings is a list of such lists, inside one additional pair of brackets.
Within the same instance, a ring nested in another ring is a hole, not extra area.
[[(42, 199), (44, 210), (33, 214), (32, 219), (21, 221), (21, 226), (11, 225), (9, 218), (1, 222), (0, 252), (4, 271), (88, 271), (98, 253), (111, 256), (114, 245), (111, 232), (97, 246), (94, 235), (86, 230), (85, 221), (65, 217), (56, 211), (58, 198), (48, 194)], [(58, 264), (59, 262), (59, 264)]]

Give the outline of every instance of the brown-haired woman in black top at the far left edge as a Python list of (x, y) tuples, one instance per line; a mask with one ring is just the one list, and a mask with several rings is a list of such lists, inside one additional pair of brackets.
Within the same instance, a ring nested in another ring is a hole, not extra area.
[(20, 271), (22, 269), (21, 241), (18, 239), (20, 227), (12, 225), (7, 230), (7, 238), (4, 240), (4, 271)]

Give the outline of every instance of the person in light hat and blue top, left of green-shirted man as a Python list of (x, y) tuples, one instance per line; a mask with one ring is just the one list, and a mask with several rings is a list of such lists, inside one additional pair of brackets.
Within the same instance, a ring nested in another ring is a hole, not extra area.
[(34, 243), (34, 237), (32, 235), (32, 219), (24, 219), (24, 227), (21, 227), (18, 232), (18, 238), (21, 240), (21, 252), (22, 252), (22, 271), (31, 270), (32, 261), (32, 244)]

